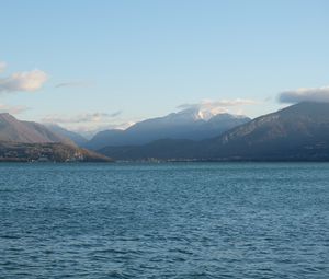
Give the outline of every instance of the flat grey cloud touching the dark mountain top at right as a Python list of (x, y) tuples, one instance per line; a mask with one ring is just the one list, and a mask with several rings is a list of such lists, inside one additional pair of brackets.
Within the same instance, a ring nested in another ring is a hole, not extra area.
[(329, 102), (329, 86), (297, 89), (279, 94), (280, 103), (294, 104), (299, 102)]

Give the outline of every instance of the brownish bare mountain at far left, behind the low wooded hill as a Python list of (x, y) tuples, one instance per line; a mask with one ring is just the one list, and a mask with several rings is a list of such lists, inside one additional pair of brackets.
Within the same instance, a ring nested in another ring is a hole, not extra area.
[(20, 121), (10, 114), (0, 114), (0, 141), (44, 143), (63, 142), (73, 144), (69, 139), (50, 131), (44, 125)]

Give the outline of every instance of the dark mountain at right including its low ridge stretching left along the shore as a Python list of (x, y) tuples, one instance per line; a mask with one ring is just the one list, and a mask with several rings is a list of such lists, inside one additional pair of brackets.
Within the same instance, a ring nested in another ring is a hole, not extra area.
[(107, 147), (122, 160), (329, 160), (329, 103), (300, 103), (256, 118), (219, 137)]

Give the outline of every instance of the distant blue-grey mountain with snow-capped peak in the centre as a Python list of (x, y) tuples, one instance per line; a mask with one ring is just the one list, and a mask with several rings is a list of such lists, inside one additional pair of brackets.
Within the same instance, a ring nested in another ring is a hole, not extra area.
[(106, 146), (145, 144), (159, 139), (202, 140), (250, 121), (246, 116), (213, 115), (198, 109), (184, 109), (164, 117), (136, 123), (126, 130), (107, 130), (95, 135), (87, 148), (98, 150)]

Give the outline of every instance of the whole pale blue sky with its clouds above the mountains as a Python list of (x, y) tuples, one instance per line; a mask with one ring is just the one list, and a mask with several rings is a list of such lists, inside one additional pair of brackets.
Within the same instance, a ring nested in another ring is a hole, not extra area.
[(327, 0), (0, 4), (0, 112), (20, 119), (82, 131), (329, 101)]

